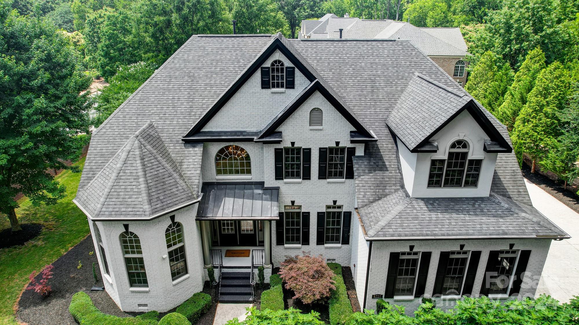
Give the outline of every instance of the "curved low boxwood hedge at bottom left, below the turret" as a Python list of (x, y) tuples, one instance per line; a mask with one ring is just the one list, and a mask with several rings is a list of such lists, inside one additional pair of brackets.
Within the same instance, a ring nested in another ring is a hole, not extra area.
[(80, 325), (156, 325), (159, 322), (159, 313), (155, 311), (137, 317), (107, 315), (98, 310), (83, 291), (72, 296), (68, 311)]

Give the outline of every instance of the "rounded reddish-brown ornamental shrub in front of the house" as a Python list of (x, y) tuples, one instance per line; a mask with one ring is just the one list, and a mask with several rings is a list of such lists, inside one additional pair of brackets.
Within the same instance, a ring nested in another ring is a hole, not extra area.
[(285, 289), (293, 290), (294, 299), (304, 304), (324, 301), (335, 290), (334, 272), (320, 256), (296, 255), (281, 263), (279, 272), (285, 282)]

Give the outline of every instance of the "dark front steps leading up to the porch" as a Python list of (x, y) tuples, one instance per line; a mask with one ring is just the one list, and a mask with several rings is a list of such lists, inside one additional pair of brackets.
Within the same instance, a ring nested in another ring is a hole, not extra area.
[(251, 304), (251, 272), (229, 272), (223, 270), (219, 302), (225, 304)]

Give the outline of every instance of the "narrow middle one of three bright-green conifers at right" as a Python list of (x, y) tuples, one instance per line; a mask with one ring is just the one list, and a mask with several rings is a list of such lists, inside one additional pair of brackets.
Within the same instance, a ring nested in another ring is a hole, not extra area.
[(527, 96), (535, 85), (539, 72), (547, 67), (545, 54), (540, 48), (529, 52), (521, 69), (515, 73), (515, 79), (505, 93), (503, 104), (494, 110), (494, 115), (512, 130), (516, 117), (527, 103)]

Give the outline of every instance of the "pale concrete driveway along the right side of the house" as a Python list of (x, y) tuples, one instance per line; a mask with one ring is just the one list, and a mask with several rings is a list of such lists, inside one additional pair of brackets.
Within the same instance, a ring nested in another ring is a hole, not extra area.
[(551, 243), (536, 296), (546, 293), (560, 302), (569, 302), (579, 296), (579, 213), (529, 180), (525, 183), (535, 208), (572, 237)]

